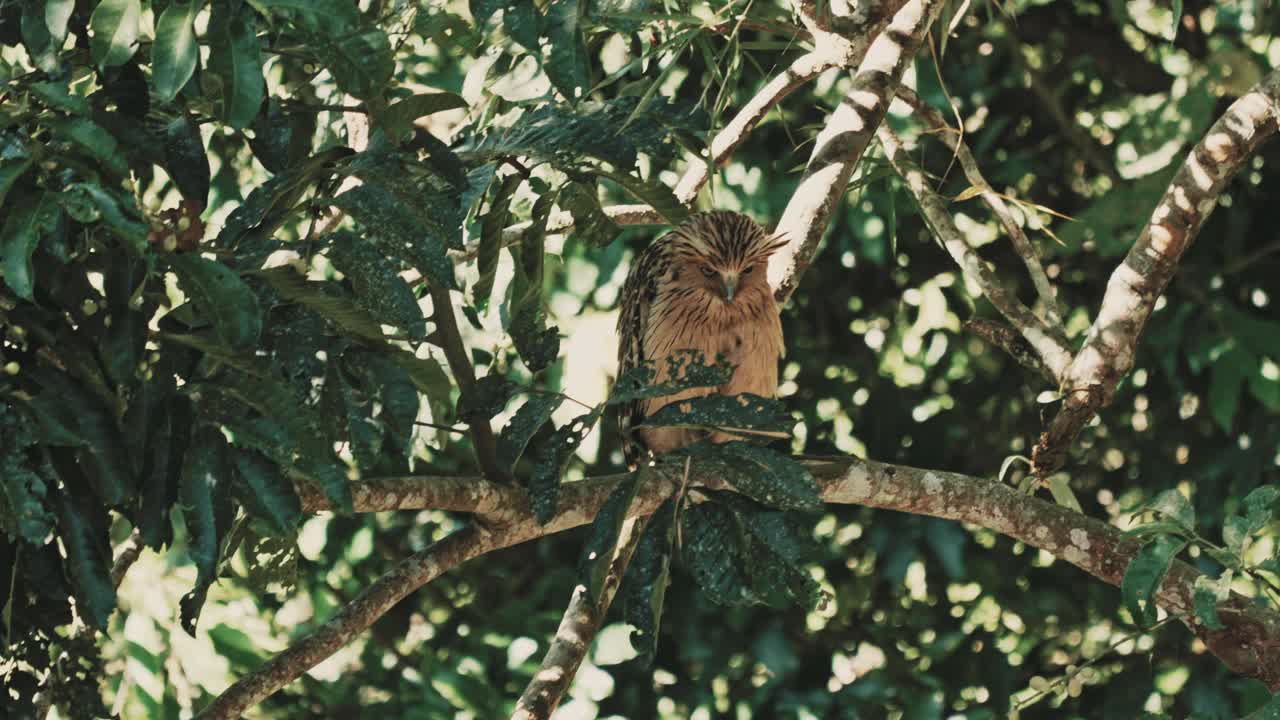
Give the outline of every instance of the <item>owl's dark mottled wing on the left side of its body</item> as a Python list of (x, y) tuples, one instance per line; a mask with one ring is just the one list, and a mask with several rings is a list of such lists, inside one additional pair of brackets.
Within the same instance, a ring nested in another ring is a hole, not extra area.
[[(618, 314), (618, 377), (639, 368), (648, 357), (645, 354), (645, 334), (649, 328), (649, 315), (658, 297), (658, 282), (666, 270), (666, 254), (659, 240), (646, 247), (637, 258), (627, 279), (622, 284), (622, 307)], [(631, 432), (644, 420), (643, 401), (631, 401), (618, 409), (618, 430), (622, 433), (622, 455), (628, 468), (636, 468), (645, 455), (643, 439)]]

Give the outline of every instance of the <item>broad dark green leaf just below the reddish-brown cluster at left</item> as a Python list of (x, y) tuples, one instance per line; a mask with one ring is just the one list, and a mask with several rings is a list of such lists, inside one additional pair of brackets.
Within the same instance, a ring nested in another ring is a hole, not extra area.
[(257, 342), (262, 332), (257, 296), (230, 268), (198, 255), (172, 255), (169, 264), (183, 291), (228, 347), (242, 350)]

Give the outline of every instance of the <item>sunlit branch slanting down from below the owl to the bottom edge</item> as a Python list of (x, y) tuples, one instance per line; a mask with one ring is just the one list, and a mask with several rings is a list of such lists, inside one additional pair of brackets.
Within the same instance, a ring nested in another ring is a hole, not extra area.
[(609, 612), (609, 605), (622, 585), (631, 556), (635, 555), (640, 537), (649, 524), (652, 515), (628, 518), (622, 527), (618, 544), (609, 561), (609, 570), (600, 588), (600, 598), (591, 602), (591, 593), (586, 585), (579, 584), (573, 588), (573, 596), (568, 601), (564, 616), (556, 630), (556, 639), (547, 650), (543, 664), (534, 674), (534, 679), (525, 688), (524, 694), (516, 702), (516, 712), (512, 720), (549, 720), (552, 712), (559, 706), (561, 698), (568, 691), (573, 676), (577, 675), (579, 666), (591, 650), (595, 633), (599, 632), (604, 618)]

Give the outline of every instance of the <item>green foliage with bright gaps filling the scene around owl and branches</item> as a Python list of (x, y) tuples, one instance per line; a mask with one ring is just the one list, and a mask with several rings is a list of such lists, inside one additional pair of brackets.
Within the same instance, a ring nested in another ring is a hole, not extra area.
[[(906, 82), (963, 123), (991, 184), (1021, 201), (1078, 342), (1176, 164), (1280, 65), (1277, 31), (1263, 0), (951, 3)], [(5, 702), (22, 716), (40, 682), (26, 670), (52, 667), (60, 716), (179, 717), (463, 521), (303, 516), (280, 491), (297, 471), (340, 503), (357, 474), (474, 471), (466, 436), (448, 429), (457, 389), (415, 278), (463, 291), (481, 374), (602, 402), (621, 284), (659, 228), (613, 228), (598, 208), (669, 204), (662, 184), (684, 152), (806, 40), (771, 0), (59, 0), (0, 1), (0, 45)], [(829, 72), (787, 97), (700, 205), (776, 222), (849, 83)], [(358, 124), (344, 109), (374, 118), (369, 151), (343, 150)], [(951, 154), (910, 110), (895, 104), (887, 122), (961, 196)], [(348, 177), (385, 195), (353, 193)], [(589, 232), (545, 237), (538, 259), (453, 266), (463, 232), (492, 242), (545, 218), (553, 192)], [(1216, 542), (1248, 492), (1280, 479), (1275, 197), (1271, 143), (1222, 196), (1135, 370), (1073, 452), (1087, 514), (1128, 527), (1176, 488)], [(355, 220), (349, 233), (315, 232), (328, 205)], [(1019, 277), (977, 200), (954, 210)], [(460, 232), (397, 247), (402, 227)], [(369, 256), (362, 232), (390, 240)], [(413, 282), (388, 279), (403, 270)], [(1006, 457), (1029, 454), (1056, 388), (966, 334), (972, 316), (995, 314), (873, 147), (783, 310), (792, 450), (997, 482)], [(552, 419), (580, 413), (564, 402)], [(234, 428), (234, 447), (209, 423)], [(344, 450), (308, 455), (317, 439)], [(179, 475), (200, 462), (233, 482), (192, 491)], [(605, 418), (566, 478), (621, 469)], [(1046, 552), (868, 509), (812, 523), (809, 571), (833, 596), (823, 610), (726, 609), (677, 565), (653, 665), (608, 625), (558, 717), (1207, 720), (1266, 702), (1184, 629), (1134, 628), (1116, 588)], [(134, 528), (164, 551), (143, 551), (113, 600), (108, 543)], [(559, 621), (585, 532), (445, 574), (253, 716), (504, 716)], [(1276, 537), (1271, 523), (1235, 550), (1280, 569)], [(1222, 570), (1197, 547), (1188, 559)], [(68, 625), (72, 593), (102, 634)]]

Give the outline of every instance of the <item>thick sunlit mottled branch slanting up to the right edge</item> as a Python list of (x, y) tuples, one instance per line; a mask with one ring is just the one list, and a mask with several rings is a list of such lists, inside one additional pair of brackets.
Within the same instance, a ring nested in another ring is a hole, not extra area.
[(1038, 474), (1061, 468), (1080, 428), (1111, 402), (1116, 384), (1133, 369), (1138, 337), (1183, 252), (1226, 183), (1277, 126), (1280, 70), (1274, 70), (1233, 102), (1183, 161), (1138, 241), (1111, 273), (1084, 347), (1066, 370), (1062, 407), (1032, 454)]

